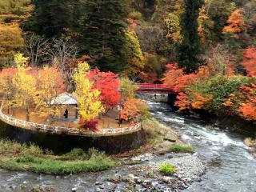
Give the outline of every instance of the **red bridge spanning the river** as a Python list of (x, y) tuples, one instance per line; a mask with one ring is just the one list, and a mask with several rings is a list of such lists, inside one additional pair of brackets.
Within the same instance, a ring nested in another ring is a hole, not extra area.
[(149, 83), (142, 83), (137, 85), (139, 87), (137, 93), (140, 94), (175, 94), (173, 86)]

